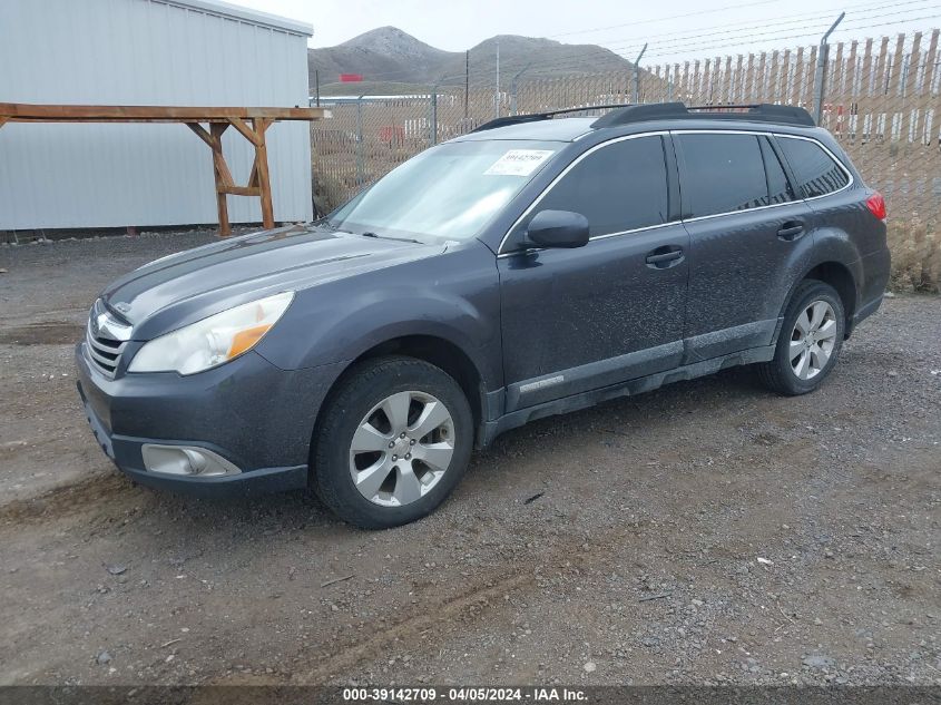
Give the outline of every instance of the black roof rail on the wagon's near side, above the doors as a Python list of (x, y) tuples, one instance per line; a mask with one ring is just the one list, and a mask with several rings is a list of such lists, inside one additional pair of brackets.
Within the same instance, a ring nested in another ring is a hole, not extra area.
[(814, 127), (811, 114), (796, 106), (780, 106), (767, 102), (749, 105), (710, 105), (687, 108), (682, 102), (655, 102), (621, 108), (598, 118), (592, 128), (614, 127), (656, 119), (749, 120), (755, 123), (784, 123)]

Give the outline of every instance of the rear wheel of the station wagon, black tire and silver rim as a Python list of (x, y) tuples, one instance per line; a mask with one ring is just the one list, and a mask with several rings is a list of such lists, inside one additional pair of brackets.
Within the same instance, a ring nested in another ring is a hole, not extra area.
[[(823, 316), (814, 327), (819, 312)], [(804, 314), (806, 317), (802, 317)], [(784, 313), (774, 358), (757, 365), (758, 378), (768, 389), (790, 396), (814, 391), (836, 364), (845, 329), (846, 316), (836, 290), (817, 280), (801, 282)]]

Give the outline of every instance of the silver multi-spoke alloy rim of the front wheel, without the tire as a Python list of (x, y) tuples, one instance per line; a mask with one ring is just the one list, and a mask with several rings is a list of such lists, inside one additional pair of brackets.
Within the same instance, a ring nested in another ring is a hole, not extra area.
[(418, 501), (444, 476), (454, 454), (454, 421), (425, 392), (396, 392), (363, 417), (350, 444), (350, 474), (383, 507)]

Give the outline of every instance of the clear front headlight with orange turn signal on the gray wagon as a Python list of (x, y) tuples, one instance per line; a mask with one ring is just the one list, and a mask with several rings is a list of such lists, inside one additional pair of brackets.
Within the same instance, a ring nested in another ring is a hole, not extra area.
[(195, 374), (248, 352), (287, 310), (294, 292), (223, 311), (155, 337), (137, 351), (128, 372)]

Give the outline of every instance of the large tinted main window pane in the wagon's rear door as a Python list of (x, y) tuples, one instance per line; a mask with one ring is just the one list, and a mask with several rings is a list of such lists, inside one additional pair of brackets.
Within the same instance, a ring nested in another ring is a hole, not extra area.
[(732, 213), (770, 203), (768, 182), (755, 135), (677, 135), (686, 164), (686, 217)]

